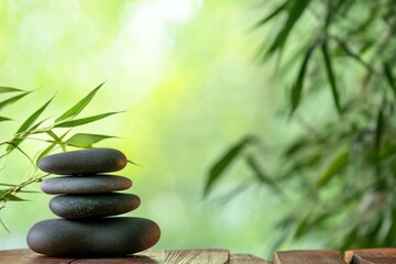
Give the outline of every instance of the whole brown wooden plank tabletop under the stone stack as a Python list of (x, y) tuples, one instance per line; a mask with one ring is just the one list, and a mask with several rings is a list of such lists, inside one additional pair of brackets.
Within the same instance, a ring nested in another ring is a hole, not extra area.
[(396, 249), (346, 251), (284, 251), (267, 262), (250, 254), (230, 254), (228, 250), (147, 250), (128, 257), (58, 258), (38, 255), (31, 250), (0, 251), (1, 264), (396, 264)]

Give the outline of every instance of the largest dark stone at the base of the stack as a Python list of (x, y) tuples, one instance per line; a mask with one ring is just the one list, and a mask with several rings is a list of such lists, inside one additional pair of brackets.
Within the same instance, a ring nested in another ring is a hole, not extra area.
[(144, 218), (51, 219), (28, 233), (29, 246), (50, 256), (124, 256), (153, 246), (160, 227)]

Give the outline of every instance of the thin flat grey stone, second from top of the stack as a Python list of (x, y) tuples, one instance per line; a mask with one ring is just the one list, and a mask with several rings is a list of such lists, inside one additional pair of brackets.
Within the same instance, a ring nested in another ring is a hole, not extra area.
[(102, 174), (47, 178), (41, 183), (41, 189), (50, 195), (109, 193), (131, 186), (132, 182), (127, 177)]

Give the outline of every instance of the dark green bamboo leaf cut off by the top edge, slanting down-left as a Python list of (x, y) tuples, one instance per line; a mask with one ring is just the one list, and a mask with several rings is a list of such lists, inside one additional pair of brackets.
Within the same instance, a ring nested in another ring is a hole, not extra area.
[(275, 37), (275, 41), (273, 42), (273, 44), (271, 45), (271, 47), (267, 52), (268, 54), (272, 54), (275, 51), (283, 48), (283, 46), (285, 45), (285, 43), (288, 38), (288, 35), (289, 35), (292, 29), (294, 28), (296, 22), (299, 20), (299, 18), (304, 14), (304, 11), (307, 10), (309, 2), (310, 2), (310, 0), (292, 0), (292, 3), (290, 3), (292, 6), (289, 9), (289, 14), (288, 14), (287, 21), (284, 24), (280, 32)]

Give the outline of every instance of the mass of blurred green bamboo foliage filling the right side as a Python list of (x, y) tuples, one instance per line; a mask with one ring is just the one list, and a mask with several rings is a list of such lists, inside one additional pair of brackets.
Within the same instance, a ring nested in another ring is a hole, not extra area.
[(274, 82), (287, 88), (283, 117), (293, 132), (296, 123), (301, 130), (280, 141), (243, 138), (215, 163), (205, 193), (243, 160), (294, 207), (277, 221), (273, 249), (290, 240), (341, 250), (396, 246), (395, 1), (267, 7), (256, 24), (271, 29), (260, 59), (276, 61)]

